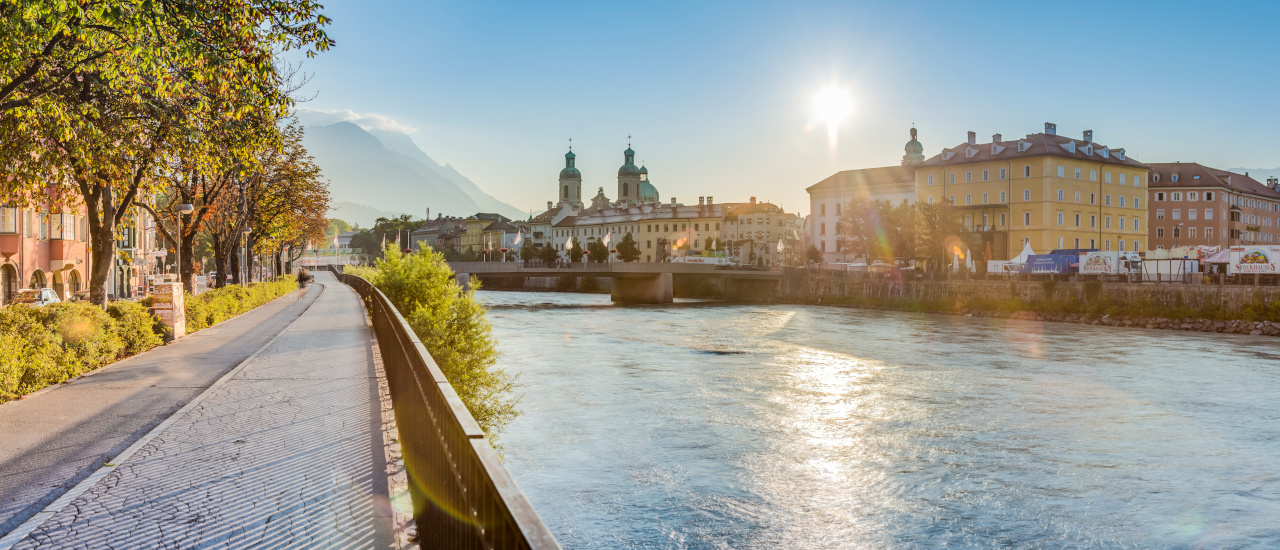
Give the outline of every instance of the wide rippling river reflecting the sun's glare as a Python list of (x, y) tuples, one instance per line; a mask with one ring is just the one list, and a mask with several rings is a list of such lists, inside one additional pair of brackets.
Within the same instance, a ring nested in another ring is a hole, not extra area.
[(567, 549), (1280, 547), (1280, 340), (480, 295)]

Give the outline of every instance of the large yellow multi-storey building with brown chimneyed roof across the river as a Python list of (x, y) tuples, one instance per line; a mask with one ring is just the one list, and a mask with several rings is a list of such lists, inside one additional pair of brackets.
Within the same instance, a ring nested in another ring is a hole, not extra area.
[[(1062, 248), (1143, 251), (1148, 166), (1123, 148), (1057, 136), (1057, 127), (989, 143), (969, 139), (915, 170), (919, 203), (950, 201), (964, 225), (1009, 260), (1029, 243), (1036, 253)], [(982, 252), (973, 251), (982, 257)]]

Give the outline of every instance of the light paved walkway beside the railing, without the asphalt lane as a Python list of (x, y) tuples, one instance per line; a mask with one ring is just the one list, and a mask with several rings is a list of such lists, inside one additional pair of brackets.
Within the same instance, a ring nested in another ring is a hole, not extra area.
[(316, 279), (296, 325), (14, 547), (389, 547), (371, 336)]

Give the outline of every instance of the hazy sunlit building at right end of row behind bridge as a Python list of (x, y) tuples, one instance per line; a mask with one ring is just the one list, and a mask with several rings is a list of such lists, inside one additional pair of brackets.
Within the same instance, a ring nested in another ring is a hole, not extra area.
[[(724, 212), (724, 242), (739, 263), (799, 263), (804, 244), (803, 220), (772, 202), (739, 203)], [(781, 252), (778, 243), (782, 243)], [(787, 260), (792, 261), (787, 261)]]

